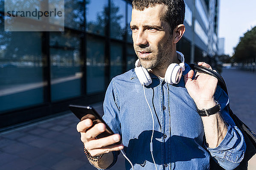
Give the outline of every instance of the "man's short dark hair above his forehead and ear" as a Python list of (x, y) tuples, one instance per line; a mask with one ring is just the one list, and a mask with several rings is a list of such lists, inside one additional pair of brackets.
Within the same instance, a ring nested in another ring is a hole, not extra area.
[(185, 18), (185, 3), (184, 0), (133, 0), (132, 8), (143, 11), (145, 8), (154, 7), (163, 4), (167, 6), (166, 14), (163, 20), (169, 23), (171, 34), (174, 28), (183, 24)]

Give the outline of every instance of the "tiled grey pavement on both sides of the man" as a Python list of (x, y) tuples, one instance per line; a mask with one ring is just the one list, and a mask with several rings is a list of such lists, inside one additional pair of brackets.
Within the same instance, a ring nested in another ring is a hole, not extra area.
[[(224, 70), (222, 75), (230, 92), (231, 108), (256, 130), (256, 74)], [(102, 113), (101, 103), (93, 107)], [(0, 133), (0, 170), (95, 170), (83, 153), (77, 123), (76, 116), (66, 113)], [(123, 169), (124, 158), (120, 155), (111, 170)], [(256, 170), (256, 156), (250, 160), (249, 170)]]

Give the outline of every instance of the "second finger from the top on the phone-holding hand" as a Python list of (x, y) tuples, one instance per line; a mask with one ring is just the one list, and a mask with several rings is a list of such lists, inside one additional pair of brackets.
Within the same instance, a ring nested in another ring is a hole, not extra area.
[(104, 132), (106, 129), (106, 125), (104, 123), (97, 123), (92, 128), (86, 131), (85, 135), (81, 136), (82, 141), (88, 141), (91, 139), (94, 139), (96, 136), (98, 136), (100, 133)]

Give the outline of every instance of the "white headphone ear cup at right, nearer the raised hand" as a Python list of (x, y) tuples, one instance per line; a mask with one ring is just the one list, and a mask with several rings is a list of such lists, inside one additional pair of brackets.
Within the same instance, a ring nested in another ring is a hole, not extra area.
[(164, 80), (169, 84), (177, 84), (180, 81), (182, 75), (182, 68), (176, 64), (172, 63), (168, 66)]

